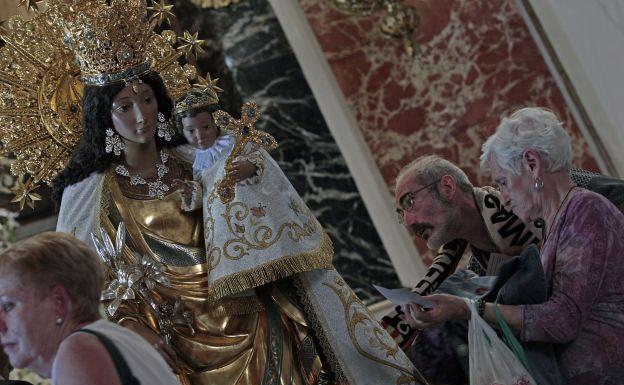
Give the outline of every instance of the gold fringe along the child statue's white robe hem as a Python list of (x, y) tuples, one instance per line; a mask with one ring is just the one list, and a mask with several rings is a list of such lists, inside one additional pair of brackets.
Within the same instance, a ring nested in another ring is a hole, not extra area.
[(315, 269), (333, 269), (334, 247), (323, 232), (321, 244), (310, 252), (283, 256), (254, 269), (241, 271), (217, 279), (208, 287), (208, 296), (219, 300), (228, 295), (253, 289), (281, 278)]

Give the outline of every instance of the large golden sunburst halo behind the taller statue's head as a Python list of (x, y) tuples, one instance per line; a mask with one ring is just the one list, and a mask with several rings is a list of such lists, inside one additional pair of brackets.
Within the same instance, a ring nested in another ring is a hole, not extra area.
[[(48, 12), (30, 20), (12, 17), (0, 31), (5, 41), (0, 48), (0, 154), (14, 158), (11, 172), (25, 181), (15, 191), (20, 209), (34, 206), (38, 195), (32, 191), (41, 183), (51, 185), (82, 135), (80, 71)], [(185, 51), (177, 44), (173, 32), (154, 32), (147, 47), (174, 98), (191, 89), (189, 71), (178, 62)]]

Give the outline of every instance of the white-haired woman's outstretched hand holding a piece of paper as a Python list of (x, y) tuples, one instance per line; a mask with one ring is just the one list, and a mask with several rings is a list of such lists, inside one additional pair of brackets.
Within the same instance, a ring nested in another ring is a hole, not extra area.
[(470, 319), (470, 308), (466, 300), (448, 294), (433, 294), (426, 297), (433, 302), (433, 309), (424, 310), (415, 303), (403, 305), (401, 317), (411, 327), (426, 329), (453, 319)]

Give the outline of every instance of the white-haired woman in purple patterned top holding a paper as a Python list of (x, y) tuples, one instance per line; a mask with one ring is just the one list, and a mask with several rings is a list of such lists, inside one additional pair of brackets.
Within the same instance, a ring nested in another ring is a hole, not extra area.
[[(522, 341), (556, 346), (567, 384), (621, 384), (624, 379), (624, 214), (606, 198), (576, 187), (569, 176), (570, 137), (543, 108), (521, 109), (503, 119), (483, 145), (506, 205), (525, 222), (542, 221), (540, 258), (550, 287), (537, 305), (498, 305)], [(427, 327), (469, 319), (466, 302), (428, 297), (435, 309), (409, 306), (407, 320)], [(479, 306), (496, 323), (494, 305)]]

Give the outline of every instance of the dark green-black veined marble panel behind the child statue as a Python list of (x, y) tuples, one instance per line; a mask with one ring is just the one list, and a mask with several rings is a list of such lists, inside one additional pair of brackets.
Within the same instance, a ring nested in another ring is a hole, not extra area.
[[(243, 0), (200, 10), (176, 2), (180, 27), (210, 39), (201, 69), (223, 76), (237, 100), (253, 100), (263, 112), (259, 129), (280, 144), (272, 155), (334, 242), (334, 264), (367, 303), (379, 299), (372, 283), (399, 285), (344, 158), (312, 95), (268, 0)], [(232, 86), (229, 86), (231, 84)], [(233, 102), (232, 102), (233, 101)], [(238, 113), (236, 113), (238, 115)]]

